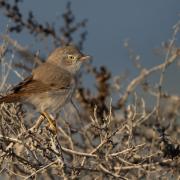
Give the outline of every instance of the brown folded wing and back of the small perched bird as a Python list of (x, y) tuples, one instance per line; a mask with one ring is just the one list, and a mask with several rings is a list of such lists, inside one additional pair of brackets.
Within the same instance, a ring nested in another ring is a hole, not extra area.
[[(44, 71), (46, 66), (46, 71)], [(56, 73), (55, 73), (56, 72)], [(33, 75), (24, 79), (12, 89), (15, 94), (41, 93), (51, 90), (69, 89), (72, 76), (51, 64), (41, 65), (33, 71)]]

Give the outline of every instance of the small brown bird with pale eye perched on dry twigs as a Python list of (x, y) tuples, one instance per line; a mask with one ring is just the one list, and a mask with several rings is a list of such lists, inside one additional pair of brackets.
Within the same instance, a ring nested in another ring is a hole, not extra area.
[(75, 77), (90, 56), (74, 45), (56, 48), (30, 76), (0, 98), (1, 103), (22, 102), (33, 105), (54, 126), (49, 114), (71, 101), (76, 89)]

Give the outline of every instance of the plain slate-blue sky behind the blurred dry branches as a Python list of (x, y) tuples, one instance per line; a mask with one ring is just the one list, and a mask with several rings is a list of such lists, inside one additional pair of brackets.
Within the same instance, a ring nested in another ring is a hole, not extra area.
[[(46, 21), (56, 22), (55, 18), (64, 12), (66, 3), (67, 0), (30, 0), (21, 3), (20, 7), (26, 15), (32, 10), (36, 19), (43, 24)], [(172, 27), (180, 18), (179, 5), (179, 0), (72, 1), (77, 21), (88, 19), (84, 50), (93, 56), (93, 63), (97, 66), (106, 65), (114, 75), (128, 70), (130, 79), (137, 75), (137, 71), (129, 59), (127, 49), (123, 47), (124, 40), (129, 39), (131, 47), (140, 55), (143, 66), (152, 67), (161, 63), (163, 59), (154, 54), (154, 49), (171, 37)], [(59, 20), (59, 24), (61, 23)], [(11, 21), (0, 11), (1, 33), (5, 32), (7, 24), (11, 24)], [(37, 42), (27, 35), (27, 31), (14, 34), (13, 38), (22, 45), (38, 48)], [(176, 70), (168, 72), (166, 84), (171, 91), (179, 88), (173, 84), (174, 75), (178, 76), (179, 68)]]

